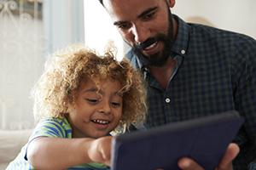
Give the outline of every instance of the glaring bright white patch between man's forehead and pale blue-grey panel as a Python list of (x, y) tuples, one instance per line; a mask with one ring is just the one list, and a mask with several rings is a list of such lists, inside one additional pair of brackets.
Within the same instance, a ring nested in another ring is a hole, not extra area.
[(90, 48), (102, 54), (106, 43), (111, 40), (119, 49), (118, 58), (124, 56), (124, 41), (98, 0), (84, 0), (84, 29), (85, 44)]

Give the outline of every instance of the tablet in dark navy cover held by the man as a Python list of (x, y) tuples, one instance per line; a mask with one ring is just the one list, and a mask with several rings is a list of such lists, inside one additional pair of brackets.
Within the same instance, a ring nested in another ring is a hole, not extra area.
[(113, 139), (111, 169), (178, 170), (177, 160), (188, 156), (214, 170), (243, 122), (237, 111), (228, 111), (125, 133)]

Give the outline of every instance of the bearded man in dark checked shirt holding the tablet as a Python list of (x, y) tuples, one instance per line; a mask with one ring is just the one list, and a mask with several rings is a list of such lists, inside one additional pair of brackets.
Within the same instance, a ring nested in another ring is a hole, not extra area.
[[(127, 58), (148, 81), (145, 127), (239, 111), (246, 119), (234, 139), (241, 151), (234, 159), (237, 145), (229, 147), (218, 169), (256, 169), (255, 40), (185, 23), (171, 13), (175, 0), (100, 2), (131, 46)], [(178, 165), (202, 169), (189, 158)]]

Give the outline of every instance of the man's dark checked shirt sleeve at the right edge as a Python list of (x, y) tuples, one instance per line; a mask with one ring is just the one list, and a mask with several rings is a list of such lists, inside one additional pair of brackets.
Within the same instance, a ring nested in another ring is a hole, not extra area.
[[(233, 77), (236, 80), (236, 89), (233, 89), (236, 110), (245, 117), (244, 144), (241, 147), (256, 148), (256, 41), (246, 37), (237, 41), (236, 63), (233, 63)], [(246, 146), (247, 145), (247, 146)], [(247, 167), (256, 169), (256, 151), (248, 149), (250, 153), (242, 153), (249, 156), (252, 161)]]

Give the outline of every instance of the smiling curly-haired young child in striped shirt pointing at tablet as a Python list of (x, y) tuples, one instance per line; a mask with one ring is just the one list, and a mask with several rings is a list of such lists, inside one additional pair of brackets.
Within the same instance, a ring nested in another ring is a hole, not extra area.
[(141, 76), (83, 45), (56, 52), (32, 90), (35, 131), (7, 169), (109, 169), (109, 133), (123, 133), (146, 112)]

